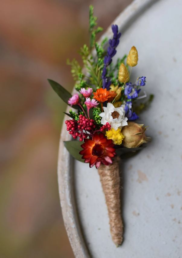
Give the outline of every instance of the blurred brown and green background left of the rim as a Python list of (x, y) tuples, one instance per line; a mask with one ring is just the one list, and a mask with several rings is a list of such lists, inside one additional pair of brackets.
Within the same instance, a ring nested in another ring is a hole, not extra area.
[(74, 257), (64, 228), (57, 154), (70, 92), (67, 58), (88, 43), (88, 10), (104, 29), (131, 0), (6, 0), (0, 11), (0, 258)]

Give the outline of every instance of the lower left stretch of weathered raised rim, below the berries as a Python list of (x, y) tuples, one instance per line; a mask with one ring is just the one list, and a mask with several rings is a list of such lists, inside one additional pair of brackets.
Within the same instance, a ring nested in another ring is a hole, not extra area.
[[(69, 113), (70, 107), (66, 109)], [(73, 183), (73, 159), (69, 152), (64, 147), (63, 141), (71, 140), (71, 136), (65, 130), (65, 121), (68, 118), (64, 117), (58, 154), (58, 187), (59, 197), (62, 208), (62, 216), (64, 220), (65, 229), (75, 257), (88, 258), (87, 247), (83, 240), (80, 225), (78, 222), (78, 215), (75, 205), (74, 197), (74, 183)]]

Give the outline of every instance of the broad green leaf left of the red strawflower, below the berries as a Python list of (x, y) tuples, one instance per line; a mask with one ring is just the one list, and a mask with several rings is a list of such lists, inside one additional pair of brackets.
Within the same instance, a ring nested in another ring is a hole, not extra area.
[(77, 159), (78, 161), (84, 162), (84, 159), (81, 159), (82, 155), (79, 152), (82, 150), (80, 141), (64, 141), (64, 145), (69, 153), (73, 156), (73, 158)]

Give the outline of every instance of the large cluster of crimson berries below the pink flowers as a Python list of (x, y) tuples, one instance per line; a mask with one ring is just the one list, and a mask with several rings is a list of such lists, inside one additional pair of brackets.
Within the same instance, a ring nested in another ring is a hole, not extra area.
[[(96, 125), (94, 124), (94, 120), (88, 119), (84, 115), (79, 115), (78, 121), (76, 121), (75, 119), (66, 120), (65, 124), (67, 126), (67, 131), (69, 131), (69, 134), (71, 134), (74, 139), (79, 137), (80, 141), (89, 136), (86, 131), (94, 131), (96, 127)], [(83, 132), (83, 130), (85, 130), (85, 133)]]

